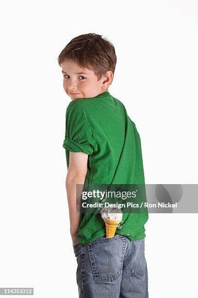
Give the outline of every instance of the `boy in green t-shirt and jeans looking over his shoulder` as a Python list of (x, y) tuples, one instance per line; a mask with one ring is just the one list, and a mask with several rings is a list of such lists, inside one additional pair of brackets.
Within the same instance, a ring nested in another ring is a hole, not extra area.
[(124, 213), (115, 236), (106, 238), (98, 212), (76, 212), (76, 185), (145, 183), (139, 133), (122, 102), (108, 91), (115, 48), (98, 34), (83, 34), (66, 45), (58, 63), (71, 98), (63, 147), (79, 297), (148, 298), (148, 213)]

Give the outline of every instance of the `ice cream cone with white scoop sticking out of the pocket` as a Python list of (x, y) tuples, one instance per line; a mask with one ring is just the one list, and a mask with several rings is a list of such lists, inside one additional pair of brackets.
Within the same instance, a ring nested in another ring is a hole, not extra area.
[(106, 225), (106, 237), (114, 237), (116, 227), (122, 220), (122, 211), (116, 207), (104, 207), (100, 214)]

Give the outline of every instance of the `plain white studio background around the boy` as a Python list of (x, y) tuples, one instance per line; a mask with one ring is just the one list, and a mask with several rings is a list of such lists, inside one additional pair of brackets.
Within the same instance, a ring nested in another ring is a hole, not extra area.
[[(107, 37), (109, 92), (142, 142), (148, 184), (197, 184), (198, 2), (1, 1), (0, 287), (78, 297), (66, 199), (65, 112), (57, 58), (73, 38)], [(197, 214), (149, 214), (150, 298), (196, 297)]]

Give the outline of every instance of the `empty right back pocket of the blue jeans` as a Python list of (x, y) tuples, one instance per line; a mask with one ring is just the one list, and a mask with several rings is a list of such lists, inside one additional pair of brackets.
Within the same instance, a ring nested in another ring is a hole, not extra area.
[(132, 262), (132, 274), (143, 277), (145, 275), (145, 239), (133, 241), (135, 245), (135, 255)]

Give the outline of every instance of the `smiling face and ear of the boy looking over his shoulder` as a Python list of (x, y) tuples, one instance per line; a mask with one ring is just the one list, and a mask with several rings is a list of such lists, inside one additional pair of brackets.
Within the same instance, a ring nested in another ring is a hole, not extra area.
[(63, 88), (71, 100), (95, 97), (108, 91), (113, 73), (107, 72), (99, 81), (92, 70), (82, 69), (73, 61), (62, 63)]

